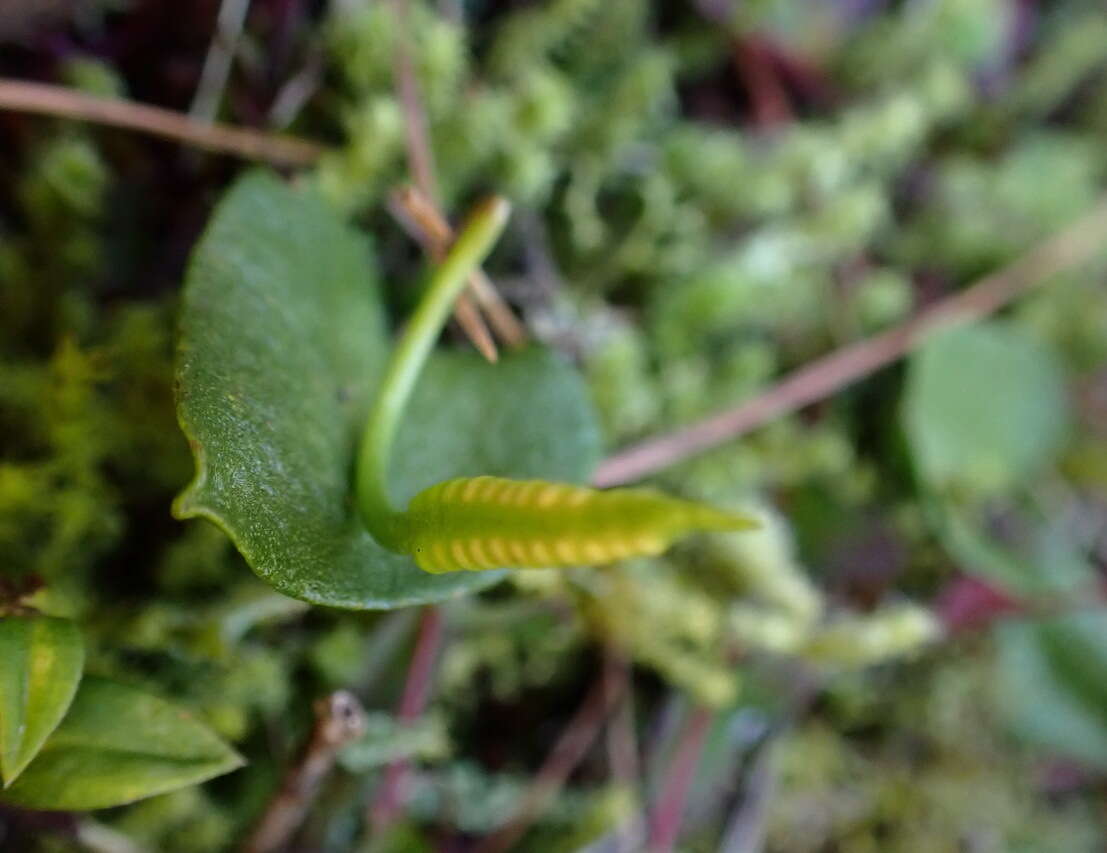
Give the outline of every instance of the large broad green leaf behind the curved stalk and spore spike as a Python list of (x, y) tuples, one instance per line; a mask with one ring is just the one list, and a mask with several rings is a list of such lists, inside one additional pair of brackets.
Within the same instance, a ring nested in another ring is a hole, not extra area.
[[(308, 193), (262, 173), (241, 179), (185, 285), (178, 416), (197, 474), (175, 511), (219, 524), (286, 595), (383, 610), (501, 576), (427, 574), (358, 518), (353, 454), (387, 344), (365, 240)], [(403, 503), (479, 474), (579, 482), (598, 456), (587, 392), (560, 360), (443, 354), (420, 378), (391, 483)]]

